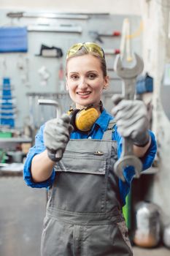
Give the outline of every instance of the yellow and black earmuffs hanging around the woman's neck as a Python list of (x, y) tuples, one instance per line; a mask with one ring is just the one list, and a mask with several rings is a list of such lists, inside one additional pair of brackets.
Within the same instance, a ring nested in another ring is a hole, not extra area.
[(74, 130), (81, 132), (88, 132), (100, 116), (100, 112), (96, 108), (93, 108), (93, 106), (82, 108), (82, 110), (71, 108), (68, 114), (71, 117), (70, 124), (72, 124)]

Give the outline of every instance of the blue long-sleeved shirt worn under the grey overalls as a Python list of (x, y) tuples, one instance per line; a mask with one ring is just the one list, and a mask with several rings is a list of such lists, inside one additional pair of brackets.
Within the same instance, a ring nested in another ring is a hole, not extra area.
[[(104, 110), (99, 118), (97, 119), (96, 123), (93, 125), (90, 134), (85, 134), (82, 132), (72, 132), (70, 135), (71, 139), (98, 139), (101, 140), (104, 132), (107, 130), (107, 126), (109, 124), (109, 121), (113, 117), (107, 113), (106, 110)], [(40, 127), (39, 132), (36, 134), (35, 138), (35, 145), (30, 148), (26, 162), (23, 169), (23, 177), (26, 181), (26, 184), (30, 187), (36, 187), (36, 188), (42, 188), (42, 187), (49, 187), (53, 184), (53, 181), (55, 179), (55, 170), (53, 170), (52, 175), (50, 178), (47, 179), (47, 181), (42, 181), (39, 183), (35, 183), (31, 178), (31, 160), (36, 154), (41, 153), (42, 151), (45, 151), (45, 145), (43, 140), (43, 131), (44, 131), (45, 124)], [(122, 151), (122, 138), (117, 132), (117, 126), (115, 125), (115, 132), (112, 133), (112, 140), (117, 140), (117, 156), (120, 157), (121, 151)], [(150, 137), (151, 137), (151, 145), (150, 148), (147, 150), (147, 153), (144, 157), (142, 157), (142, 164), (143, 164), (143, 170), (146, 170), (152, 165), (153, 159), (155, 158), (156, 154), (156, 142), (155, 142), (155, 136), (151, 131)], [(119, 180), (119, 189), (120, 189), (120, 198), (122, 200), (123, 205), (125, 204), (125, 197), (128, 195), (130, 185), (132, 178), (134, 176), (134, 168), (133, 170), (129, 171), (133, 167), (127, 167), (124, 170), (124, 176), (125, 176), (125, 182)]]

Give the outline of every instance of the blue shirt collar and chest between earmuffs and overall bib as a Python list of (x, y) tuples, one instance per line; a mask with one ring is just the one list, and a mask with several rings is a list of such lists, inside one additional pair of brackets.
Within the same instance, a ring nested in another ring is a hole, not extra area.
[(70, 135), (71, 139), (85, 139), (85, 138), (89, 138), (89, 139), (97, 139), (97, 140), (101, 140), (104, 132), (107, 129), (107, 126), (109, 124), (109, 121), (112, 119), (113, 117), (107, 113), (107, 111), (104, 109), (101, 113), (101, 115), (98, 117), (97, 121), (95, 122), (95, 124), (93, 124), (92, 129), (90, 130), (90, 132), (79, 132), (79, 131), (75, 131), (72, 132), (72, 134)]

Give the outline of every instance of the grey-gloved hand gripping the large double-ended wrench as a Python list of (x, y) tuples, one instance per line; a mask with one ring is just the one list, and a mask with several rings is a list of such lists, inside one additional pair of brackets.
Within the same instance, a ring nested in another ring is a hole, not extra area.
[(117, 131), (125, 138), (131, 138), (134, 145), (146, 146), (149, 143), (149, 120), (147, 108), (141, 100), (123, 99), (118, 94), (112, 97), (115, 107), (112, 115), (115, 116)]

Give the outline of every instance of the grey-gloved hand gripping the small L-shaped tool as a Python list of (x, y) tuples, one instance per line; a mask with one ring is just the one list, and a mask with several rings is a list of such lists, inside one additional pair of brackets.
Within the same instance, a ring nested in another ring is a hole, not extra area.
[[(63, 114), (61, 118), (54, 118), (47, 121), (44, 129), (44, 142), (48, 157), (52, 161), (57, 162), (62, 158), (72, 131), (73, 127), (70, 124), (70, 117), (67, 114)], [(57, 151), (61, 151), (62, 154), (60, 157), (55, 157)]]

